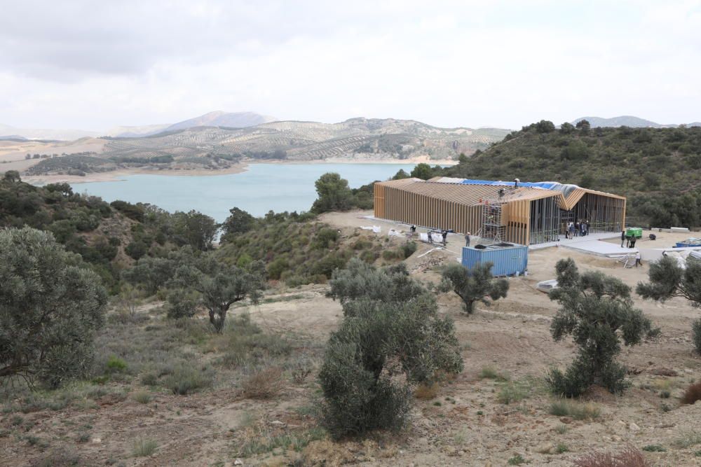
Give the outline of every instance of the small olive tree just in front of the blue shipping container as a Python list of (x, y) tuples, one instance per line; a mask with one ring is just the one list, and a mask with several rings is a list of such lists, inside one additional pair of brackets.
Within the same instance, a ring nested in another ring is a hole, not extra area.
[(475, 311), (475, 302), (490, 305), (492, 301), (505, 298), (509, 291), (506, 279), (494, 279), (491, 275), (491, 263), (477, 264), (472, 269), (451, 263), (443, 268), (440, 291), (454, 291), (465, 303), (465, 312)]

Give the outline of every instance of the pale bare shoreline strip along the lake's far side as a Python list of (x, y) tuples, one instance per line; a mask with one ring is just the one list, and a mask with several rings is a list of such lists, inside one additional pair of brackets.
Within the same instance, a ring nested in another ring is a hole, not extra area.
[(245, 160), (232, 167), (226, 169), (118, 169), (111, 172), (93, 172), (86, 174), (86, 176), (77, 175), (25, 175), (22, 176), (22, 181), (27, 183), (32, 183), (32, 185), (46, 185), (48, 183), (93, 183), (99, 181), (122, 181), (121, 177), (129, 175), (167, 175), (167, 176), (215, 176), (215, 175), (229, 175), (229, 174), (241, 174), (247, 172), (248, 166), (252, 164), (281, 164), (281, 165), (299, 165), (299, 164), (394, 164), (394, 165), (407, 165), (407, 164), (420, 164), (426, 163), (429, 165), (456, 165), (457, 162), (454, 160), (426, 160), (425, 158), (414, 158), (414, 159), (369, 159), (369, 160)]

